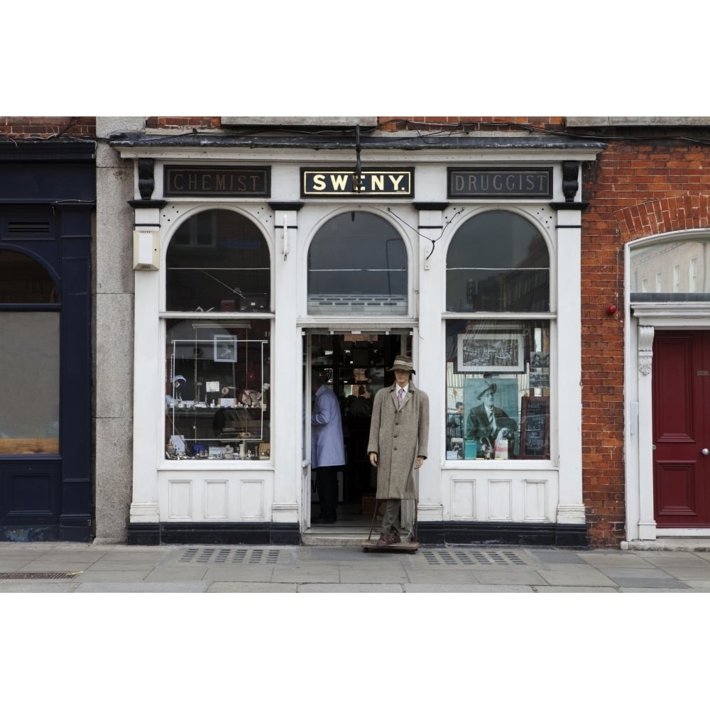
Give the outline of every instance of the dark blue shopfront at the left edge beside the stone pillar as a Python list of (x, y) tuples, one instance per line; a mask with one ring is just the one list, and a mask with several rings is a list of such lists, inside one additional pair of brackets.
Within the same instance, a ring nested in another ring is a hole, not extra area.
[(0, 146), (0, 541), (89, 540), (95, 144)]

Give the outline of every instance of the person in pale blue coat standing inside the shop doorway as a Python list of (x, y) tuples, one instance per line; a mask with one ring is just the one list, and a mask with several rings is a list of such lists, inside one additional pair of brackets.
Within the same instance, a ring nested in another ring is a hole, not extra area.
[(332, 524), (337, 519), (338, 471), (345, 464), (345, 444), (340, 403), (327, 386), (329, 376), (313, 374), (314, 394), (311, 414), (311, 469), (316, 474), (320, 515), (312, 523)]

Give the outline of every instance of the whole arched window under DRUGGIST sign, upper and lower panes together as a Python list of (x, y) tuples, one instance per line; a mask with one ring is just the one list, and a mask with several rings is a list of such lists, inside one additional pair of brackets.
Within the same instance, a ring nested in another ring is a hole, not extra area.
[(447, 459), (549, 459), (550, 320), (526, 317), (550, 311), (545, 239), (518, 214), (476, 215), (446, 275)]

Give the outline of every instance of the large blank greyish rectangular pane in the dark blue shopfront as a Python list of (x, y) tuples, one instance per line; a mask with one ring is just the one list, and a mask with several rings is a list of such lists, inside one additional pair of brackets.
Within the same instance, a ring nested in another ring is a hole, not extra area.
[(59, 313), (0, 312), (0, 454), (59, 453)]

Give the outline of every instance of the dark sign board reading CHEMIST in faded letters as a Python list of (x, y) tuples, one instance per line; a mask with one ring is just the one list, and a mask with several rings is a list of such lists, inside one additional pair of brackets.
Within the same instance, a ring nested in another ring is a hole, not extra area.
[(270, 197), (271, 168), (165, 165), (165, 197)]

